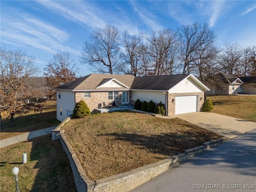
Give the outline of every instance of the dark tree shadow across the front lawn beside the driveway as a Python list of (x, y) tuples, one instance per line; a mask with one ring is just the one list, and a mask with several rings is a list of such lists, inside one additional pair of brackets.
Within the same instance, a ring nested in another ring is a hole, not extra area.
[(178, 133), (160, 133), (150, 136), (132, 134), (132, 133), (109, 133), (100, 134), (99, 136), (113, 136), (113, 140), (128, 141), (133, 145), (137, 145), (141, 149), (148, 149), (152, 153), (164, 156), (174, 156), (184, 152), (189, 148), (200, 146), (204, 142), (220, 138), (210, 135), (194, 133), (191, 131)]

